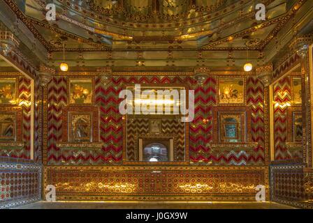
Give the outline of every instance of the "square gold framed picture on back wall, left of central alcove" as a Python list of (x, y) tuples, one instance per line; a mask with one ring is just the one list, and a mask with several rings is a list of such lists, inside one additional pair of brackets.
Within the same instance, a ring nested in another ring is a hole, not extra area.
[(68, 104), (92, 105), (94, 101), (94, 81), (92, 78), (69, 78)]

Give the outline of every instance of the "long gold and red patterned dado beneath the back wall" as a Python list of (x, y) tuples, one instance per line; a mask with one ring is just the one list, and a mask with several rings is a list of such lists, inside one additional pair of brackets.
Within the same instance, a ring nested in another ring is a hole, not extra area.
[(57, 200), (255, 201), (267, 167), (46, 166)]

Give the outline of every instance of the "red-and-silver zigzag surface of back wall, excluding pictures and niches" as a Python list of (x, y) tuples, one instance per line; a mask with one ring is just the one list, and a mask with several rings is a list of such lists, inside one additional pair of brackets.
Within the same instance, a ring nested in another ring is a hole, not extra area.
[[(64, 153), (57, 148), (61, 140), (61, 109), (66, 106), (66, 77), (54, 77), (48, 86), (48, 164), (122, 164), (122, 115), (118, 106), (119, 91), (125, 84), (188, 84), (195, 90), (195, 117), (189, 128), (189, 154), (191, 164), (212, 165), (263, 165), (265, 164), (264, 142), (264, 97), (263, 85), (254, 77), (247, 77), (247, 106), (252, 107), (252, 141), (256, 148), (231, 148), (214, 151), (210, 148), (213, 139), (212, 107), (217, 105), (217, 76), (210, 76), (199, 86), (192, 77), (168, 76), (122, 76), (112, 77), (108, 84), (95, 78), (95, 105), (100, 110), (99, 151), (84, 151), (83, 155)], [(131, 146), (131, 144), (130, 144)], [(131, 155), (131, 154), (129, 154)]]

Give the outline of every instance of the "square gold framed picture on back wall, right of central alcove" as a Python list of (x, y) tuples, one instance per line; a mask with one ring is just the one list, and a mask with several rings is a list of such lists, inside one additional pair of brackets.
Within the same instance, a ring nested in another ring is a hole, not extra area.
[(219, 105), (245, 105), (245, 77), (218, 79)]

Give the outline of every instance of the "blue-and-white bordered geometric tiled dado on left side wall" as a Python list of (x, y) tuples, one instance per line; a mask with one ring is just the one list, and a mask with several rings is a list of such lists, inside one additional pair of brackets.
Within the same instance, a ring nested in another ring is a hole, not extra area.
[(0, 208), (41, 199), (41, 165), (0, 163)]

